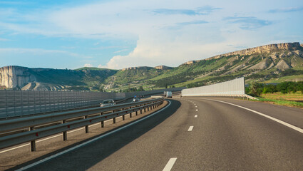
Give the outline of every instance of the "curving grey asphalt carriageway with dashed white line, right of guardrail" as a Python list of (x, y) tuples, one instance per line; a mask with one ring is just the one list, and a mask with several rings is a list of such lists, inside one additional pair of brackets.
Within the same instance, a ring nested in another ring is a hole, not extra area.
[(44, 162), (39, 162), (41, 157), (21, 166), (34, 163), (28, 170), (303, 170), (302, 128), (299, 108), (229, 98), (173, 98), (167, 108), (145, 120), (73, 150), (64, 149)]

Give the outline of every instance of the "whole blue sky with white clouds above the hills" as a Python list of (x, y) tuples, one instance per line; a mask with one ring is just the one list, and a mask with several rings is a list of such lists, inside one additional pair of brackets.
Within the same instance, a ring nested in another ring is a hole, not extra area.
[(302, 0), (0, 0), (0, 67), (128, 68), (303, 41)]

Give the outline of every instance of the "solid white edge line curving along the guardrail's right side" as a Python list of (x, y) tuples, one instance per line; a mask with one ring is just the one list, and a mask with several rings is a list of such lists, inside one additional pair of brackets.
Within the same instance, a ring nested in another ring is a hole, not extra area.
[(110, 133), (106, 133), (106, 134), (104, 134), (104, 135), (101, 135), (101, 136), (98, 137), (98, 138), (94, 138), (94, 139), (92, 139), (92, 140), (88, 140), (87, 142), (83, 142), (83, 143), (81, 143), (81, 144), (79, 144), (79, 145), (76, 145), (75, 147), (71, 147), (71, 148), (69, 148), (69, 149), (67, 149), (67, 150), (64, 150), (64, 151), (62, 151), (62, 152), (59, 152), (59, 153), (57, 153), (57, 154), (55, 154), (55, 155), (51, 155), (50, 157), (46, 157), (46, 158), (44, 158), (44, 159), (42, 159), (42, 160), (39, 160), (38, 162), (34, 162), (34, 163), (32, 163), (31, 165), (27, 165), (27, 166), (25, 166), (25, 167), (21, 167), (19, 170), (16, 170), (16, 171), (27, 170), (27, 169), (29, 169), (29, 168), (31, 168), (31, 167), (34, 167), (35, 165), (41, 164), (42, 162), (46, 162), (47, 160), (51, 160), (51, 159), (53, 159), (53, 158), (55, 158), (55, 157), (58, 157), (58, 156), (60, 156), (60, 155), (63, 155), (63, 154), (65, 154), (65, 153), (67, 153), (67, 152), (70, 152), (70, 151), (72, 151), (72, 150), (75, 150), (75, 149), (77, 149), (78, 147), (82, 147), (82, 146), (87, 145), (87, 144), (89, 144), (89, 143), (91, 143), (91, 142), (94, 142), (94, 141), (96, 141), (96, 140), (99, 140), (99, 139), (101, 139), (101, 138), (104, 138), (104, 137), (106, 137), (106, 136), (108, 136), (108, 135), (111, 135), (111, 134), (116, 133), (116, 132), (118, 132), (118, 131), (120, 131), (120, 130), (123, 130), (123, 129), (125, 129), (125, 128), (128, 128), (128, 127), (130, 127), (131, 125), (135, 125), (136, 123), (139, 123), (139, 122), (141, 122), (141, 121), (143, 121), (143, 120), (145, 120), (145, 119), (147, 119), (147, 118), (152, 117), (152, 116), (155, 115), (155, 114), (158, 114), (158, 113), (162, 112), (162, 110), (165, 110), (166, 108), (168, 108), (168, 107), (170, 106), (170, 104), (171, 104), (171, 103), (170, 103), (170, 100), (168, 100), (168, 105), (166, 105), (164, 108), (162, 108), (162, 109), (156, 111), (155, 113), (152, 113), (152, 114), (146, 116), (145, 118), (140, 118), (139, 120), (136, 120), (135, 122), (130, 123), (130, 124), (128, 124), (128, 125), (125, 125), (125, 126), (123, 126), (123, 127), (121, 127), (121, 128), (118, 128), (118, 129), (116, 129), (116, 130), (113, 130), (113, 131), (111, 131)]

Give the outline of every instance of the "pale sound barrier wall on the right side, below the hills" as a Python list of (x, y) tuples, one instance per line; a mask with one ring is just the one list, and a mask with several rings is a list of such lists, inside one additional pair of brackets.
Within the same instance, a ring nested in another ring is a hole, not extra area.
[(237, 78), (232, 81), (217, 83), (210, 86), (202, 86), (197, 88), (188, 88), (181, 91), (183, 97), (186, 96), (238, 96), (247, 97), (245, 95), (245, 79)]

